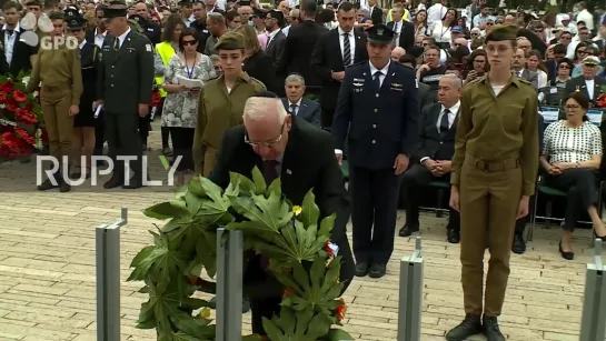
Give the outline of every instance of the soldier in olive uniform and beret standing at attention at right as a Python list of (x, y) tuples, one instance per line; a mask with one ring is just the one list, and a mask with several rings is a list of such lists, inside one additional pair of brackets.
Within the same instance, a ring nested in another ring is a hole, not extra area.
[[(450, 207), (460, 211), (466, 315), (446, 334), (448, 341), (478, 333), (488, 341), (505, 340), (497, 318), (507, 289), (514, 228), (516, 219), (528, 214), (538, 168), (537, 93), (510, 71), (516, 33), (514, 26), (497, 26), (490, 31), (484, 47), (490, 71), (463, 90)], [(490, 260), (483, 304), (487, 238)]]

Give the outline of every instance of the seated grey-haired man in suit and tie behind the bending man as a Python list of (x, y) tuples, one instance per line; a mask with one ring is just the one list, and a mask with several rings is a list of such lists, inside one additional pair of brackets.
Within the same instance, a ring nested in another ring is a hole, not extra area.
[(305, 79), (296, 73), (288, 76), (285, 90), (286, 98), (282, 98), (282, 104), (286, 111), (320, 128), (320, 103), (302, 98), (306, 90)]

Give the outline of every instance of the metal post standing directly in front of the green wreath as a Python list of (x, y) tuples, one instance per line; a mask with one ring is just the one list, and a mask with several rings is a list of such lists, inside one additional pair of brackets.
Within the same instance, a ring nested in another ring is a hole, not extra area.
[(217, 230), (217, 340), (242, 339), (242, 231)]

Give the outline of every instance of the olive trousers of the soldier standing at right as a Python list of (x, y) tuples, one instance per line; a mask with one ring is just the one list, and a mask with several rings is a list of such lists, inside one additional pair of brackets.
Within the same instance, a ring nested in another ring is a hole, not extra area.
[[(516, 215), (521, 198), (519, 159), (490, 161), (466, 156), (459, 182), (460, 263), (465, 312), (500, 315)], [(484, 289), (486, 241), (490, 260)]]

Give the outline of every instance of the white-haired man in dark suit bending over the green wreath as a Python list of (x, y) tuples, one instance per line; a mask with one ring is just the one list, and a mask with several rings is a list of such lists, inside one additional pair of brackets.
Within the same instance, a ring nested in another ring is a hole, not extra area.
[[(257, 166), (264, 170), (267, 182), (280, 177), (282, 193), (292, 204), (301, 204), (305, 194), (314, 189), (320, 217), (337, 213), (331, 241), (339, 247), (340, 281), (347, 288), (354, 278), (354, 259), (346, 237), (350, 202), (335, 159), (332, 137), (288, 114), (278, 98), (249, 98), (244, 123), (225, 133), (210, 180), (227, 188), (229, 172), (250, 178)], [(264, 270), (260, 257), (249, 259), (244, 280), (252, 311), (252, 332), (265, 334), (262, 318), (271, 319), (279, 312), (284, 287)]]

